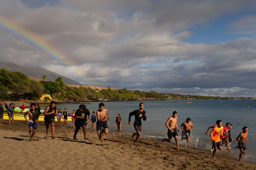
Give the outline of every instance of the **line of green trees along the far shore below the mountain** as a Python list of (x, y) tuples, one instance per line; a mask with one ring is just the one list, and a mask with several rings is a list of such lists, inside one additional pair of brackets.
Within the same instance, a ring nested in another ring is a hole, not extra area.
[(166, 95), (154, 91), (141, 92), (130, 91), (126, 88), (112, 90), (102, 89), (98, 91), (89, 87), (69, 87), (62, 81), (62, 77), (56, 80), (46, 81), (47, 77), (42, 76), (40, 82), (28, 78), (21, 72), (10, 72), (0, 69), (0, 99), (29, 99), (38, 100), (42, 94), (50, 94), (52, 98), (63, 102), (73, 101), (120, 101), (120, 100), (161, 100), (166, 99)]

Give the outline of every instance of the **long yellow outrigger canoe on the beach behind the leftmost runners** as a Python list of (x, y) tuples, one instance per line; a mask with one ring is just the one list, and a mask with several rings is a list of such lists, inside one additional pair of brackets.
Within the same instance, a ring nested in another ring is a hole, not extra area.
[[(25, 111), (26, 112), (26, 111)], [(25, 118), (24, 118), (24, 113), (25, 112), (23, 112), (23, 113), (20, 113), (20, 112), (13, 112), (13, 114), (14, 114), (14, 121), (26, 121), (25, 120)], [(26, 119), (28, 120), (29, 119), (29, 116), (28, 115), (26, 115)], [(5, 112), (4, 111), (4, 113), (3, 113), (3, 119), (2, 120), (9, 120), (9, 117), (8, 117), (8, 115), (7, 115), (7, 112)], [(44, 122), (44, 116), (43, 116), (43, 113), (41, 113), (41, 115), (39, 116), (39, 118), (38, 118), (38, 121), (39, 122)], [(55, 122), (57, 122), (58, 120), (57, 120), (57, 118), (55, 117)], [(61, 119), (61, 121), (63, 121), (62, 119)], [(71, 117), (70, 116), (68, 116), (67, 117), (67, 121), (68, 122), (71, 122), (72, 121), (72, 119), (71, 119)]]

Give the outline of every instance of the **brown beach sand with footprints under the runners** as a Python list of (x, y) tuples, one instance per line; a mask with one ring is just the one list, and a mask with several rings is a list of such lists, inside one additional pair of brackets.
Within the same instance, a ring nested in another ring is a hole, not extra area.
[[(140, 138), (133, 145), (131, 136), (105, 135), (101, 146), (95, 130), (89, 130), (88, 140), (82, 130), (78, 141), (72, 140), (74, 129), (55, 126), (55, 139), (43, 139), (45, 126), (39, 123), (34, 141), (28, 141), (26, 122), (14, 121), (0, 126), (1, 170), (255, 170), (256, 165), (219, 156), (211, 152), (180, 147)], [(56, 124), (55, 124), (56, 125)], [(49, 129), (50, 134), (50, 129)], [(238, 158), (238, 155), (237, 155)]]

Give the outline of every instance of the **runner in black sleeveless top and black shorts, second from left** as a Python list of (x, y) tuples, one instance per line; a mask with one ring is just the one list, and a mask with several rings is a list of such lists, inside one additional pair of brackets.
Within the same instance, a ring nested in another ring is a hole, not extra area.
[(54, 125), (55, 125), (55, 117), (57, 117), (57, 107), (55, 106), (56, 102), (51, 101), (49, 106), (46, 106), (44, 109), (43, 115), (44, 115), (44, 124), (46, 127), (46, 133), (44, 139), (48, 138), (48, 129), (49, 125), (51, 127), (51, 139), (54, 139)]

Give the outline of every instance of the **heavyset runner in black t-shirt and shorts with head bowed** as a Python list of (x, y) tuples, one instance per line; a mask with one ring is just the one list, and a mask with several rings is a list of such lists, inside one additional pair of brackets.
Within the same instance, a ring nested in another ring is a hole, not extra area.
[(77, 132), (79, 131), (79, 129), (81, 127), (83, 129), (84, 139), (87, 140), (87, 138), (86, 138), (86, 134), (87, 134), (87, 127), (86, 127), (87, 115), (89, 117), (88, 122), (90, 122), (90, 112), (89, 112), (88, 109), (86, 109), (85, 105), (81, 104), (79, 106), (79, 109), (77, 109), (75, 111), (75, 115), (74, 115), (74, 117), (75, 117), (75, 121), (74, 121), (75, 130), (74, 130), (74, 136), (73, 136), (74, 140), (77, 140), (76, 139), (76, 134), (77, 134)]

